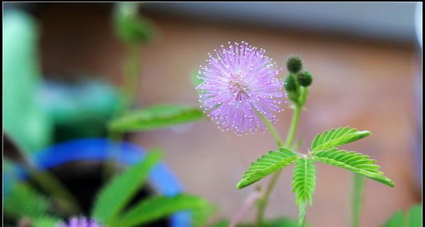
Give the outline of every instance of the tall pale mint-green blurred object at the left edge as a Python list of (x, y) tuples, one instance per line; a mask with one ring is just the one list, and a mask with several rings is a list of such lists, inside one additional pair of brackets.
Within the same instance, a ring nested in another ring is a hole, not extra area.
[(50, 144), (52, 123), (37, 103), (40, 84), (38, 27), (21, 11), (4, 12), (4, 132), (19, 149), (33, 152)]

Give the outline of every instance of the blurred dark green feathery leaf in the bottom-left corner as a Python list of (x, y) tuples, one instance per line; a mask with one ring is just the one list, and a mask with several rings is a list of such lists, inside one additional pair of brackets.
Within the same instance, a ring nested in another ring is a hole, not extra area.
[(21, 182), (16, 182), (4, 197), (4, 213), (16, 219), (21, 216), (31, 218), (42, 216), (49, 208), (47, 198)]

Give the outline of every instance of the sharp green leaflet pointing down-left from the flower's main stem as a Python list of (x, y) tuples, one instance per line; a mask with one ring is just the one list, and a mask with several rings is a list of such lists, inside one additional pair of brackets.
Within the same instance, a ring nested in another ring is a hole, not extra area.
[(256, 162), (252, 163), (249, 169), (242, 176), (242, 180), (237, 184), (238, 189), (254, 184), (264, 177), (275, 173), (297, 160), (294, 151), (281, 147), (279, 151), (268, 151)]

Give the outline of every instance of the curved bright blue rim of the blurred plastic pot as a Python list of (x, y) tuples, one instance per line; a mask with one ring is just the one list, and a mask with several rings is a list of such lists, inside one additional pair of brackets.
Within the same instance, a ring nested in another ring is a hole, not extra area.
[[(35, 152), (30, 158), (40, 170), (47, 170), (71, 161), (109, 160), (111, 157), (106, 152), (109, 146), (111, 146), (111, 141), (107, 139), (77, 139)], [(135, 144), (122, 142), (120, 144), (115, 143), (114, 146), (121, 149), (120, 156), (114, 158), (116, 163), (121, 165), (134, 165), (145, 158), (145, 149)], [(18, 167), (9, 173), (14, 173), (23, 180), (27, 177), (25, 171)], [(5, 176), (5, 179), (8, 179), (8, 177)], [(155, 192), (166, 196), (174, 196), (182, 191), (179, 181), (164, 163), (159, 163), (152, 168), (149, 182), (151, 182)], [(4, 188), (7, 188), (8, 180), (4, 180), (4, 184)], [(191, 226), (190, 212), (181, 211), (171, 215), (170, 227), (188, 226)]]

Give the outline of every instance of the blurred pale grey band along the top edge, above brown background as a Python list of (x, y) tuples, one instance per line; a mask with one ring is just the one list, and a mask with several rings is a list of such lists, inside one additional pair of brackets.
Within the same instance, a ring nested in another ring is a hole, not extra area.
[(145, 7), (212, 21), (300, 28), (399, 42), (416, 42), (414, 2), (151, 3)]

